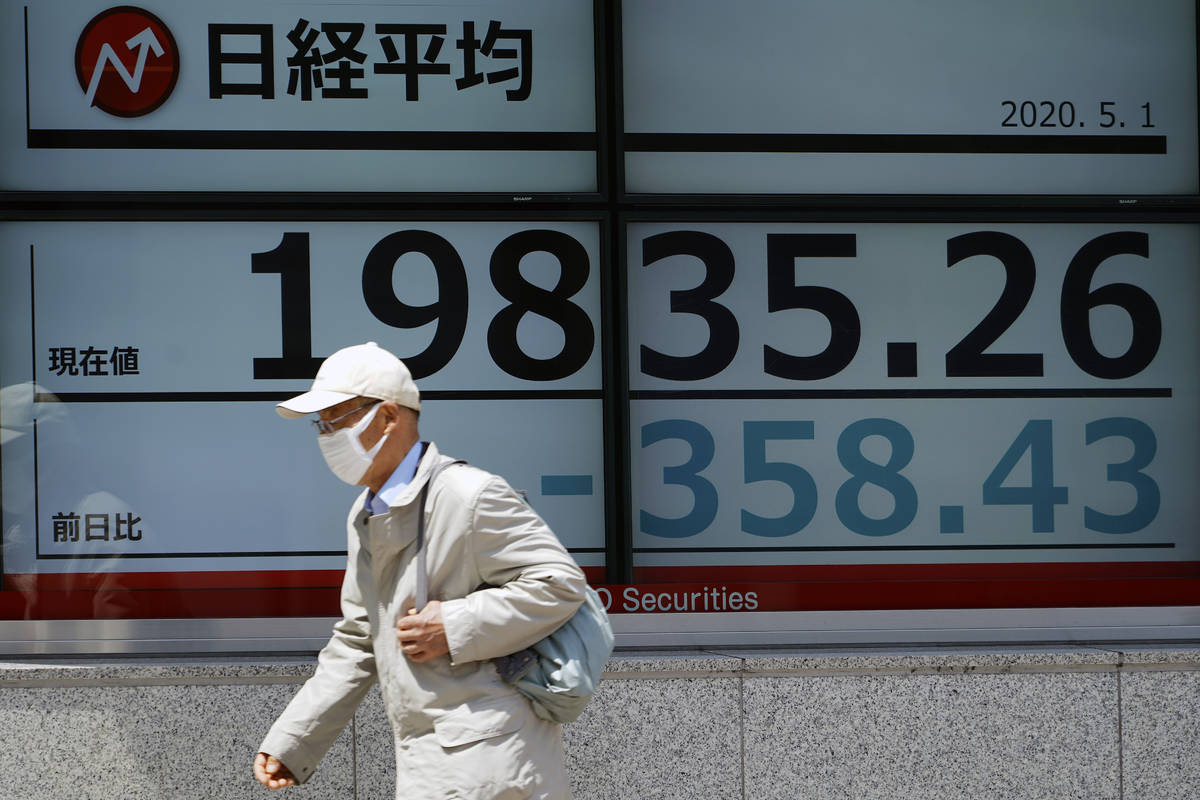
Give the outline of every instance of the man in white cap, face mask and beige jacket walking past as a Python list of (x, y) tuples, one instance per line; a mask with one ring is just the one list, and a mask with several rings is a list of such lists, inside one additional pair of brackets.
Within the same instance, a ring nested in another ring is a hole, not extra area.
[[(583, 601), (583, 573), (503, 479), (418, 435), (420, 393), (374, 342), (329, 356), (312, 390), (329, 468), (367, 487), (347, 521), (342, 616), (317, 672), (271, 727), (254, 776), (304, 783), (378, 679), (396, 741), (396, 796), (566, 798), (562, 728), (539, 718), (491, 658), (521, 650)], [(415, 608), (421, 489), (430, 601)]]

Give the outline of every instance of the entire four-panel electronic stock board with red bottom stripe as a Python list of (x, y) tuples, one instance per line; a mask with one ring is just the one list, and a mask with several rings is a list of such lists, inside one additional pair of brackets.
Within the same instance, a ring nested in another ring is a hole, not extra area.
[(368, 341), (613, 612), (1200, 606), (1196, 52), (1196, 0), (0, 0), (0, 620), (335, 613), (358, 489), (275, 404)]

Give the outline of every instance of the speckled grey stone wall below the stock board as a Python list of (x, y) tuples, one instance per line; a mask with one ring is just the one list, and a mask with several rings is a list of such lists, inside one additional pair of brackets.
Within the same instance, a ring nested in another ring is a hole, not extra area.
[[(394, 798), (378, 693), (310, 783), (250, 760), (312, 657), (0, 664), (0, 798)], [(618, 652), (576, 800), (1195, 800), (1200, 646)]]

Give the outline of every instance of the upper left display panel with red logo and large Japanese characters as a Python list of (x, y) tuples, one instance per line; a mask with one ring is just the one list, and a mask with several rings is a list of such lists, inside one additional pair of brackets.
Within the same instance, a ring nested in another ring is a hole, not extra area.
[(595, 192), (594, 37), (554, 0), (4, 2), (0, 188)]

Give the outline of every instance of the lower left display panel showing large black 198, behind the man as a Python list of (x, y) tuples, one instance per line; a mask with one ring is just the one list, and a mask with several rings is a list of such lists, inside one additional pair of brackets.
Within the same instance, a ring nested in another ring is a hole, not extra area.
[(599, 240), (553, 221), (4, 224), (6, 588), (336, 585), (360, 489), (274, 404), (365, 341), (412, 368), (422, 438), (602, 565)]

